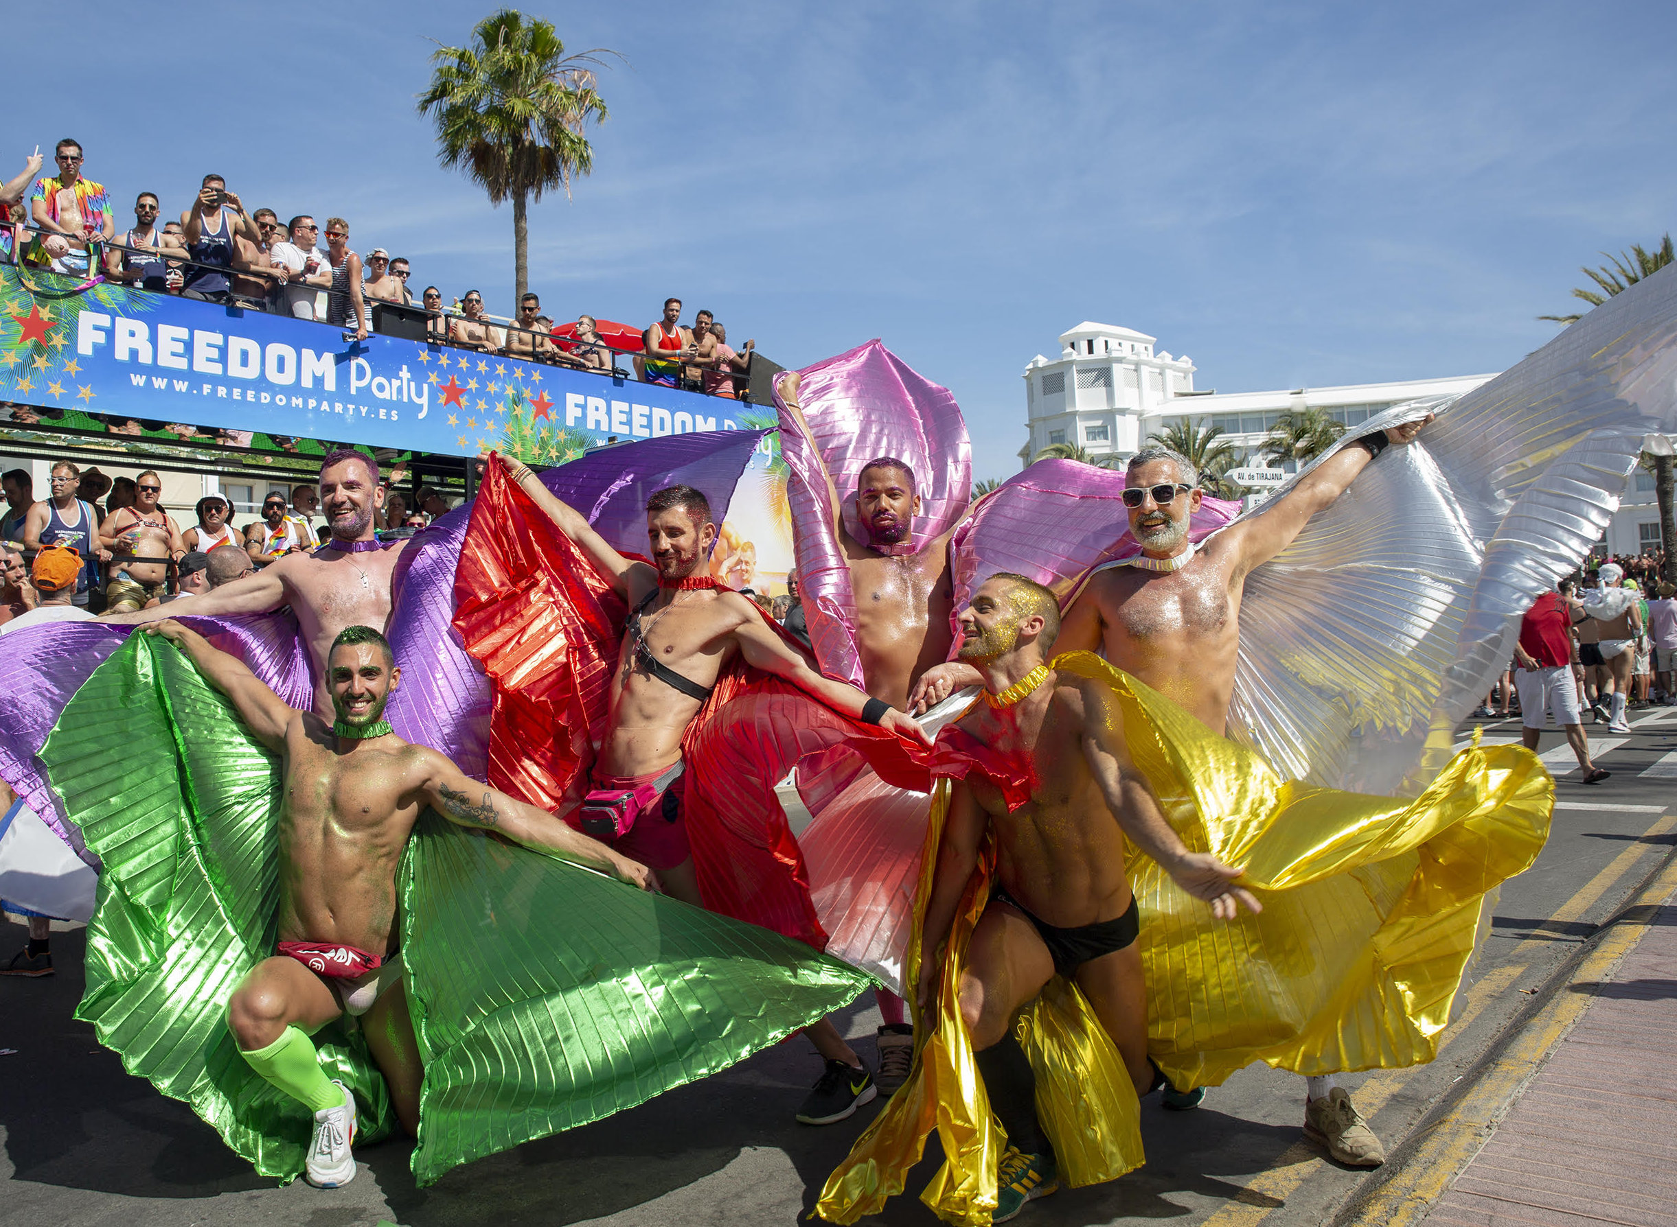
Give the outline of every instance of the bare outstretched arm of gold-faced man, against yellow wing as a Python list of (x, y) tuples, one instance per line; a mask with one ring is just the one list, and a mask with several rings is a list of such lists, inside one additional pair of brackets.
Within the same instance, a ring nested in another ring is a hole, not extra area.
[(1263, 903), (1234, 880), (1244, 868), (1224, 865), (1209, 852), (1189, 852), (1182, 838), (1166, 821), (1159, 800), (1152, 795), (1130, 761), (1124, 744), (1124, 712), (1112, 691), (1095, 681), (1085, 681), (1078, 689), (1082, 707), (1083, 758), (1100, 784), (1112, 818), (1135, 845), (1159, 862), (1182, 890), (1211, 903), (1218, 920), (1233, 920), (1244, 903), (1251, 912), (1263, 912)]

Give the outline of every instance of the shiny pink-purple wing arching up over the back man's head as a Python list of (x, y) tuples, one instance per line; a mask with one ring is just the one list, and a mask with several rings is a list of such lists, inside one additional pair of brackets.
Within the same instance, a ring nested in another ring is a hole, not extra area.
[[(822, 670), (857, 686), (855, 595), (832, 523), (827, 476), (844, 505), (847, 531), (867, 540), (855, 523), (862, 466), (896, 456), (914, 469), (921, 515), (914, 540), (942, 536), (966, 511), (973, 486), (973, 444), (949, 389), (916, 374), (877, 340), (798, 372), (798, 402), (815, 436), (815, 454), (787, 414), (780, 394), (780, 454), (790, 469), (787, 501), (798, 558), (798, 590), (810, 640)], [(825, 469), (825, 473), (823, 473)]]

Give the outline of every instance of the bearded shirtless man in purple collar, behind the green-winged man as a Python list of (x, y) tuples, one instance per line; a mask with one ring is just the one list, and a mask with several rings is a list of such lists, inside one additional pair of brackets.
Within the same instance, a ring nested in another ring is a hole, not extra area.
[[(288, 553), (253, 575), (193, 597), (193, 614), (272, 614), (290, 605), (297, 615), (315, 674), (317, 716), (332, 714), (325, 660), (344, 627), (382, 630), (391, 617), (391, 575), (406, 541), (381, 545), (372, 535), (372, 515), (384, 506), (379, 466), (350, 448), (329, 451), (320, 461), (320, 503), (332, 540), (314, 553)], [(117, 614), (107, 622), (156, 622), (168, 608)]]

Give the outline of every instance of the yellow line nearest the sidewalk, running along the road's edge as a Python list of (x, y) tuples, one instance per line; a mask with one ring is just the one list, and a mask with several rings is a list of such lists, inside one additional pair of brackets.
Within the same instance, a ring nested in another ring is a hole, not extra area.
[[(1657, 905), (1672, 892), (1677, 892), (1677, 862), (1665, 867), (1637, 897), (1637, 903)], [(1647, 929), (1647, 914), (1618, 922), (1578, 964), (1571, 982), (1575, 986), (1605, 982)], [(1375, 1190), (1363, 1205), (1362, 1220), (1378, 1222), (1382, 1227), (1409, 1227), (1425, 1219), (1432, 1204), (1479, 1153), (1509, 1103), (1583, 1017), (1591, 1001), (1595, 1001), (1591, 992), (1556, 992), (1462, 1101), (1427, 1130), (1425, 1140), (1404, 1168)]]

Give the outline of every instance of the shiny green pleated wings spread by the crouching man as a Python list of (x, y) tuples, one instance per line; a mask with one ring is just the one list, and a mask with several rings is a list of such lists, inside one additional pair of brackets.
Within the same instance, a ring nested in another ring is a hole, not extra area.
[[(42, 759), (106, 863), (79, 1017), (258, 1172), (295, 1177), (309, 1113), (252, 1073), (223, 1021), (240, 977), (273, 950), (278, 763), (149, 635), (94, 670)], [(802, 942), (431, 811), (399, 888), (426, 1066), (419, 1183), (724, 1069), (872, 982)], [(315, 1044), (361, 1100), (361, 1136), (389, 1133), (359, 1028), (332, 1024)]]

